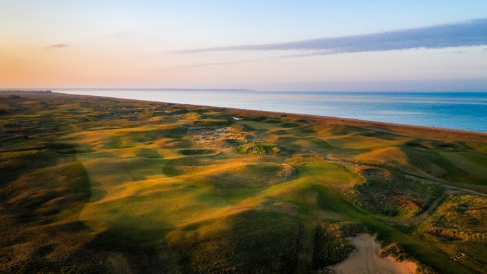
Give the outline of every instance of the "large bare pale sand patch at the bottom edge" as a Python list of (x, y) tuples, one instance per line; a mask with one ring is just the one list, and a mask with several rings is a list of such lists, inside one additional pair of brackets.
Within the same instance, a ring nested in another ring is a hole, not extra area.
[(359, 234), (349, 238), (355, 251), (350, 254), (347, 260), (336, 264), (331, 269), (341, 274), (412, 274), (416, 272), (416, 264), (413, 262), (397, 262), (391, 256), (379, 257), (379, 244), (375, 236)]

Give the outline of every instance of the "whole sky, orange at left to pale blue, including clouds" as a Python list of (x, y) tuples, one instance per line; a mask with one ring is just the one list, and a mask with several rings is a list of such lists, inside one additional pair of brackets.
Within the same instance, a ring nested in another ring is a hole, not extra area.
[(487, 91), (487, 1), (0, 0), (0, 88)]

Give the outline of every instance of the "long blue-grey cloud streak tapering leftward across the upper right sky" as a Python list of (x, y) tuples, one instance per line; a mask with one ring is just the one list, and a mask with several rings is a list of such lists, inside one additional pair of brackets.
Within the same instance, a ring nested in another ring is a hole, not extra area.
[(317, 38), (261, 45), (234, 45), (228, 47), (186, 49), (175, 52), (184, 54), (208, 51), (314, 51), (305, 55), (294, 56), (299, 57), (364, 51), (391, 51), (416, 48), (440, 49), (445, 47), (479, 45), (487, 45), (487, 18), (375, 34)]

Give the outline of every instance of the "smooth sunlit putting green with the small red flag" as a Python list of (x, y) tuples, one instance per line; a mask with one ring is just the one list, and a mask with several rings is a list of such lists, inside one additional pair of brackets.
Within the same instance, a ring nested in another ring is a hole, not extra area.
[(132, 182), (116, 198), (88, 203), (79, 220), (101, 231), (107, 227), (118, 231), (172, 229), (224, 216), (229, 210), (229, 203), (211, 191), (174, 179), (152, 181)]

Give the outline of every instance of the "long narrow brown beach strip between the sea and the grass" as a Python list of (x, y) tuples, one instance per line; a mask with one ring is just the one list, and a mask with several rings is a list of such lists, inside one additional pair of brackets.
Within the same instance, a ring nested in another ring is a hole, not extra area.
[[(43, 92), (32, 92), (28, 90), (23, 90), (23, 91), (4, 90), (3, 92), (5, 93), (25, 92), (29, 95), (43, 94)], [(106, 96), (99, 96), (99, 95), (75, 95), (71, 93), (62, 93), (62, 92), (45, 92), (45, 95), (97, 97), (97, 98), (104, 98), (104, 99), (116, 99), (125, 102), (138, 101), (144, 103), (171, 103), (171, 102), (163, 102), (163, 101), (149, 101), (149, 100), (142, 100), (142, 99), (106, 97)], [(358, 126), (358, 127), (372, 127), (373, 129), (386, 130), (389, 132), (395, 132), (402, 135), (427, 137), (427, 138), (441, 139), (441, 140), (468, 140), (468, 141), (487, 142), (487, 132), (475, 132), (475, 131), (464, 130), (464, 129), (450, 129), (445, 127), (426, 127), (422, 125), (406, 125), (406, 124), (388, 123), (388, 122), (380, 122), (380, 121), (367, 121), (367, 120), (360, 120), (360, 119), (342, 118), (336, 116), (321, 116), (321, 115), (300, 114), (300, 113), (292, 113), (292, 112), (273, 112), (269, 110), (249, 110), (249, 109), (241, 109), (241, 108), (218, 107), (212, 105), (195, 105), (189, 103), (173, 103), (173, 104), (189, 105), (192, 107), (219, 108), (225, 110), (232, 110), (234, 112), (237, 112), (238, 114), (251, 113), (255, 115), (279, 115), (279, 116), (286, 115), (298, 119), (299, 118), (313, 119), (316, 123), (323, 124), (323, 125), (349, 125), (349, 126)]]

